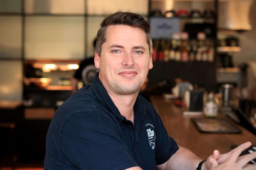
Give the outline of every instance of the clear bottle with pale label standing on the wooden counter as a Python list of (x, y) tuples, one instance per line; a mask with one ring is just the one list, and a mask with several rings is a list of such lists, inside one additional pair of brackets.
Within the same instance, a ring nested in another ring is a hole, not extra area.
[(203, 113), (207, 117), (217, 117), (218, 105), (217, 105), (217, 102), (215, 100), (215, 95), (214, 95), (213, 92), (211, 92), (208, 95), (208, 98), (204, 103)]

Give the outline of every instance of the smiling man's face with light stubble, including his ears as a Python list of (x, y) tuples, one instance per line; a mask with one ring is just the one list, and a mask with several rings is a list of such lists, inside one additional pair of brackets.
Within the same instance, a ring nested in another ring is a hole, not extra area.
[(94, 62), (108, 93), (118, 95), (138, 92), (153, 67), (145, 32), (128, 25), (108, 26), (101, 56), (96, 53)]

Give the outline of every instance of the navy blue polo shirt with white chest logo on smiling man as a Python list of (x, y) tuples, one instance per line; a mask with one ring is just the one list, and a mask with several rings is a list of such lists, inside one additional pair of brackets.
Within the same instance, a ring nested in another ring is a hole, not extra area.
[(44, 169), (157, 169), (178, 150), (161, 118), (138, 96), (134, 125), (120, 114), (98, 73), (56, 111), (46, 137)]

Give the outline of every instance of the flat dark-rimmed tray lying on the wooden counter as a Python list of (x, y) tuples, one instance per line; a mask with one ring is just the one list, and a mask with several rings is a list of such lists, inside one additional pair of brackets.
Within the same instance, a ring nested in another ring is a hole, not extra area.
[(200, 132), (206, 133), (241, 133), (235, 125), (222, 118), (191, 118)]

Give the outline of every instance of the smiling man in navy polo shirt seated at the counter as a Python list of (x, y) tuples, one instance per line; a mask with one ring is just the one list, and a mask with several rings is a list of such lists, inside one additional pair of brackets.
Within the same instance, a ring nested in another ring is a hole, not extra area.
[(216, 150), (205, 162), (178, 146), (154, 107), (138, 96), (153, 67), (151, 55), (150, 24), (143, 17), (116, 12), (102, 21), (94, 58), (99, 73), (56, 111), (46, 138), (46, 170), (235, 170), (256, 157), (237, 159), (249, 142), (223, 155)]

